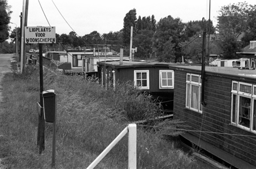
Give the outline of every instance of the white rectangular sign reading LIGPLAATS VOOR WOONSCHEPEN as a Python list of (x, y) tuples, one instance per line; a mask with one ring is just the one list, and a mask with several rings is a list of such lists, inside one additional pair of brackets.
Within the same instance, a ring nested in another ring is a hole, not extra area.
[(55, 26), (25, 26), (25, 43), (56, 43)]

